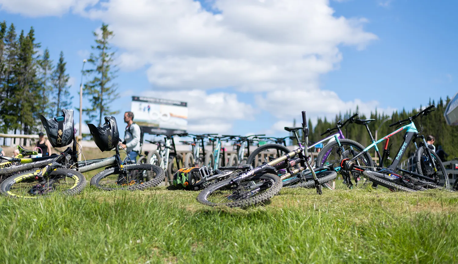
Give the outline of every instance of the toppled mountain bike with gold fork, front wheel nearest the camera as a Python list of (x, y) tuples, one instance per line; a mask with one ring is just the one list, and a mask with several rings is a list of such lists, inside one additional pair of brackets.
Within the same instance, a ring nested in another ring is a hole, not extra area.
[[(305, 111), (302, 112), (302, 129), (305, 137), (308, 135)], [(246, 207), (256, 205), (272, 198), (282, 189), (282, 180), (276, 175), (277, 169), (274, 167), (281, 162), (289, 164), (297, 156), (295, 162), (299, 162), (300, 167), (289, 167), (290, 172), (284, 174), (282, 178), (289, 178), (294, 174), (302, 172), (308, 167), (311, 171), (313, 184), (317, 194), (322, 194), (321, 183), (312, 170), (308, 156), (304, 155), (305, 147), (299, 147), (283, 156), (270, 162), (263, 163), (245, 172), (236, 172), (228, 179), (214, 183), (202, 190), (197, 196), (197, 201), (204, 205), (217, 206), (225, 205), (229, 207)], [(249, 164), (248, 164), (249, 165)]]

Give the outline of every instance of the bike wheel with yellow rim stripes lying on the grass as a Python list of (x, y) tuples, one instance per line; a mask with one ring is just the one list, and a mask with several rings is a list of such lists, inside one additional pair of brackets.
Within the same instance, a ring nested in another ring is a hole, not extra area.
[(44, 178), (38, 178), (38, 172), (31, 170), (5, 179), (0, 192), (10, 197), (36, 199), (58, 193), (75, 195), (87, 184), (86, 178), (75, 170), (56, 168)]

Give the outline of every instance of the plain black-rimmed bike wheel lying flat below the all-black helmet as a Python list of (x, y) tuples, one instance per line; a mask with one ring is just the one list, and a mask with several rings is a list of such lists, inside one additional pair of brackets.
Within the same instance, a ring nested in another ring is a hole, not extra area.
[(121, 175), (118, 167), (99, 172), (91, 179), (91, 185), (107, 191), (133, 191), (157, 186), (165, 178), (164, 170), (152, 164), (125, 165), (124, 169), (126, 175)]

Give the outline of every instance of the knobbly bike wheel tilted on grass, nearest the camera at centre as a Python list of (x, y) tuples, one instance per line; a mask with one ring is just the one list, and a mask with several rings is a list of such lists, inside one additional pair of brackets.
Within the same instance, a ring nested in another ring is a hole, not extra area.
[(210, 206), (246, 207), (265, 202), (281, 189), (280, 178), (266, 173), (246, 178), (238, 183), (232, 183), (232, 179), (215, 183), (202, 190), (197, 196), (197, 201)]

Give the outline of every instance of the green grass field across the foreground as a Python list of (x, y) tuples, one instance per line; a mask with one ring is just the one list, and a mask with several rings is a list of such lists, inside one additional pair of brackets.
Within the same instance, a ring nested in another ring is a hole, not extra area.
[(210, 208), (153, 188), (0, 198), (1, 263), (453, 263), (456, 194), (283, 189)]

